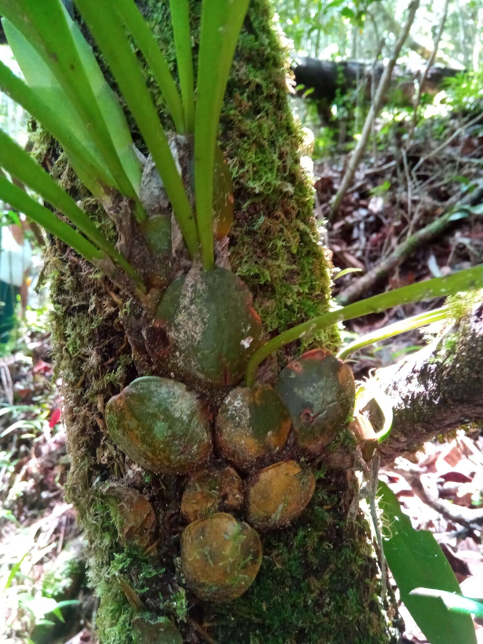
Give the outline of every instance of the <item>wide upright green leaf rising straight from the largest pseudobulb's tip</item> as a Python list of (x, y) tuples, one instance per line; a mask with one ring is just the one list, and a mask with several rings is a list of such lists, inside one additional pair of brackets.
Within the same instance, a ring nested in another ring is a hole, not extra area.
[(214, 269), (214, 150), (223, 96), (249, 0), (204, 0), (196, 85), (194, 182), (196, 221), (205, 270)]

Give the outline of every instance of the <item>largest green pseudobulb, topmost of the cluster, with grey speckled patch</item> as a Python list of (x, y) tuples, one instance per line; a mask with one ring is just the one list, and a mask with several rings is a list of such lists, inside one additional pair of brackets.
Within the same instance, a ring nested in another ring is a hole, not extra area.
[(173, 377), (208, 387), (238, 384), (260, 346), (261, 320), (243, 281), (225, 269), (194, 267), (167, 288), (154, 327), (156, 348)]

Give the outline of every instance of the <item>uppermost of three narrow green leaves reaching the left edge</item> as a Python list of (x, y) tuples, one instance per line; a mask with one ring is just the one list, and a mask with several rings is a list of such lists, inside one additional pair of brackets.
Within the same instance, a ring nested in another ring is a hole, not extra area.
[(76, 165), (82, 166), (84, 173), (88, 173), (99, 185), (97, 196), (102, 195), (102, 185), (114, 187), (113, 178), (106, 173), (106, 169), (99, 163), (95, 156), (83, 146), (73, 131), (66, 126), (64, 120), (59, 118), (52, 109), (41, 100), (35, 91), (25, 84), (0, 61), (0, 89), (10, 99), (18, 103), (33, 118), (39, 121), (46, 130), (56, 138), (68, 155), (75, 160)]

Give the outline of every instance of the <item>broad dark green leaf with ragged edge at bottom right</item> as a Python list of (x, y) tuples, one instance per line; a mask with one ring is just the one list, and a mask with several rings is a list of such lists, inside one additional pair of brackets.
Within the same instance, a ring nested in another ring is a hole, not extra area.
[(421, 586), (448, 594), (461, 591), (434, 536), (412, 527), (395, 494), (382, 481), (377, 493), (383, 513), (384, 555), (412, 618), (430, 644), (476, 644), (469, 615), (448, 612), (437, 598), (412, 594)]

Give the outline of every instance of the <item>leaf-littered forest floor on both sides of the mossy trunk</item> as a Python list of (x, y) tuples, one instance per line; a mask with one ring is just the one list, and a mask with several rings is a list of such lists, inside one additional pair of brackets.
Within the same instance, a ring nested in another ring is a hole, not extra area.
[[(334, 265), (359, 269), (336, 280), (335, 296), (390, 257), (408, 235), (435, 221), (483, 182), (482, 150), (483, 132), (462, 130), (441, 150), (435, 142), (415, 144), (403, 155), (397, 146), (393, 151), (388, 146), (361, 164), (354, 187), (325, 233)], [(316, 214), (320, 219), (327, 217), (344, 160), (316, 165)], [(458, 211), (460, 215), (442, 234), (393, 266), (363, 296), (480, 263), (483, 211), (478, 212), (478, 206)], [(398, 307), (352, 321), (346, 325), (345, 339), (438, 305)], [(408, 332), (357, 352), (350, 364), (356, 378), (362, 379), (370, 370), (403, 359), (424, 343), (423, 334)], [(95, 642), (96, 601), (82, 564), (82, 532), (62, 489), (69, 459), (58, 385), (48, 325), (31, 320), (19, 334), (12, 354), (0, 358), (0, 641), (8, 644)], [(427, 443), (412, 461), (406, 462), (406, 468), (403, 463), (397, 472), (386, 469), (381, 477), (413, 526), (434, 533), (465, 594), (480, 596), (480, 529), (441, 516), (422, 500), (412, 477), (417, 468), (417, 478), (435, 485), (439, 497), (453, 509), (482, 507), (482, 432), (460, 431), (445, 442)], [(404, 607), (402, 612), (405, 640), (426, 643)], [(483, 622), (477, 624), (477, 634), (483, 642), (482, 626)]]

